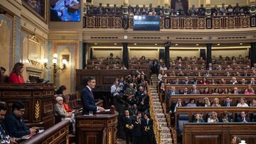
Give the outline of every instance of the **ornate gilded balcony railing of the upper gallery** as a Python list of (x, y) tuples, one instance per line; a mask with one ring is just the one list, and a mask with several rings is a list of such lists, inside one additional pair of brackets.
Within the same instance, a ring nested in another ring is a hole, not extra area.
[[(250, 28), (250, 16), (171, 16), (160, 18), (160, 28), (166, 29), (220, 29)], [(123, 16), (84, 16), (83, 28), (124, 28)], [(128, 18), (128, 28), (133, 28), (133, 16)]]

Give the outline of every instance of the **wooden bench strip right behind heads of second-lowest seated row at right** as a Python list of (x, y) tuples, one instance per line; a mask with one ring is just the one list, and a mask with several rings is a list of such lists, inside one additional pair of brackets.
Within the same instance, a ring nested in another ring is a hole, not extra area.
[(220, 101), (220, 105), (222, 105), (225, 102), (225, 98), (226, 97), (230, 97), (231, 99), (231, 104), (233, 104), (233, 106), (237, 106), (237, 104), (240, 102), (240, 98), (243, 97), (245, 98), (245, 102), (249, 105), (250, 102), (252, 101), (252, 99), (256, 99), (256, 95), (247, 95), (247, 94), (218, 94), (218, 95), (206, 95), (206, 94), (202, 94), (202, 95), (172, 95), (171, 99), (169, 99), (169, 106), (174, 106), (174, 103), (176, 103), (178, 101), (178, 99), (181, 99), (183, 106), (185, 104), (189, 103), (190, 99), (195, 99), (195, 104), (197, 104), (197, 106), (202, 106), (203, 104), (203, 99), (204, 98), (208, 98), (210, 99), (211, 104), (213, 104), (213, 99), (218, 98)]

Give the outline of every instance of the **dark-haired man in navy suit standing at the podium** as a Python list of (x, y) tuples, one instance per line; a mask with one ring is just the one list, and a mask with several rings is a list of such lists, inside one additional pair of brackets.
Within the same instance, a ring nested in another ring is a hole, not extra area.
[(86, 87), (82, 90), (81, 100), (82, 100), (82, 114), (89, 114), (90, 111), (96, 113), (97, 111), (105, 111), (104, 108), (96, 106), (95, 99), (92, 94), (92, 89), (96, 86), (96, 80), (94, 77), (88, 77), (85, 80)]

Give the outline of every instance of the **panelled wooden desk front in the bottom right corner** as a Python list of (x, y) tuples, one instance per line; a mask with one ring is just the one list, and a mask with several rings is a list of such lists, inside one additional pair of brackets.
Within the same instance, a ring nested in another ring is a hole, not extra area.
[(229, 144), (234, 136), (247, 144), (256, 143), (256, 123), (186, 123), (183, 127), (183, 143)]

